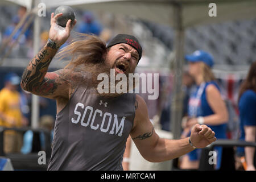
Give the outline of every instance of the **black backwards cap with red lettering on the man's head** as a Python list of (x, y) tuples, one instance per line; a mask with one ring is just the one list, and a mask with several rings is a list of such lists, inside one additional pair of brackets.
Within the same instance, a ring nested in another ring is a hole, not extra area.
[(121, 44), (121, 43), (129, 44), (130, 46), (134, 47), (139, 53), (139, 60), (141, 59), (142, 47), (141, 47), (141, 44), (139, 44), (138, 39), (136, 39), (135, 36), (133, 35), (118, 34), (112, 40), (110, 40), (107, 48), (112, 47), (116, 44)]

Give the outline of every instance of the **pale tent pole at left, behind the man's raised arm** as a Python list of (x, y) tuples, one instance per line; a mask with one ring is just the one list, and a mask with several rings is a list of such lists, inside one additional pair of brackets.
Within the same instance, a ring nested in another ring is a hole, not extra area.
[[(38, 0), (33, 1), (34, 5), (33, 7), (36, 7), (38, 5)], [(40, 18), (36, 14), (35, 15), (35, 22), (34, 22), (34, 55), (36, 55), (39, 51), (40, 46)], [(39, 97), (32, 94), (32, 101), (31, 101), (31, 127), (33, 129), (38, 127), (39, 122)]]

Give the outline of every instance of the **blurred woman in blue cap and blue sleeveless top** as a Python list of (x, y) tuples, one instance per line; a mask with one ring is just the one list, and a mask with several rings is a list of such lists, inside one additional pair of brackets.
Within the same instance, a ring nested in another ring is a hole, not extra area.
[[(205, 51), (195, 51), (192, 55), (185, 56), (189, 64), (189, 74), (195, 79), (196, 88), (192, 91), (188, 103), (188, 120), (186, 127), (191, 129), (196, 123), (210, 127), (217, 139), (226, 138), (226, 122), (228, 111), (221, 98), (220, 88), (211, 71), (213, 57)], [(188, 131), (184, 129), (184, 131)], [(188, 134), (183, 135), (190, 135)], [(214, 147), (217, 152), (217, 166), (220, 168), (221, 147)], [(197, 169), (199, 167), (201, 150), (193, 150), (183, 156), (180, 167), (183, 169)]]

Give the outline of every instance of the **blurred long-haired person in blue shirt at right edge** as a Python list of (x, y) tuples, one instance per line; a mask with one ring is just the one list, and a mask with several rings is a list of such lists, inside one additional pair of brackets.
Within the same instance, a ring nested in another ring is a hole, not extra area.
[[(249, 73), (240, 87), (238, 97), (240, 111), (241, 139), (247, 142), (255, 142), (256, 137), (256, 61), (251, 64)], [(237, 151), (243, 153), (243, 148)], [(254, 158), (255, 148), (245, 147), (246, 170), (255, 171)]]

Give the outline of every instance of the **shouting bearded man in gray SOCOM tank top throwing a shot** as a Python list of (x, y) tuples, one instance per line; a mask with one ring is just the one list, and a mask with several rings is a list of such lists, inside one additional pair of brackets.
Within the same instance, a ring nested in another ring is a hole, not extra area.
[[(99, 93), (97, 76), (134, 73), (142, 56), (138, 40), (119, 34), (108, 46), (96, 36), (73, 41), (59, 52), (71, 56), (61, 70), (47, 72), (58, 48), (76, 24), (68, 20), (65, 31), (55, 28), (51, 15), (49, 39), (23, 73), (21, 86), (33, 94), (57, 101), (57, 115), (48, 170), (122, 170), (122, 155), (129, 134), (150, 162), (163, 162), (214, 142), (214, 132), (196, 124), (189, 138), (159, 138), (148, 118), (147, 106), (135, 93)], [(111, 84), (110, 84), (111, 85)], [(107, 88), (108, 89), (108, 88)]]

